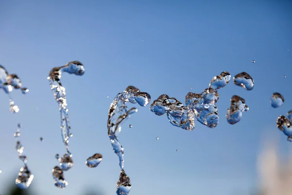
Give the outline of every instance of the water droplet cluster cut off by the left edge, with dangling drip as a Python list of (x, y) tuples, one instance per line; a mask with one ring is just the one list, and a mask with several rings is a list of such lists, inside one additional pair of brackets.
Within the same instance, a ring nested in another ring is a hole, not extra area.
[(26, 87), (21, 87), (22, 83), (20, 78), (18, 78), (16, 74), (8, 74), (7, 70), (0, 65), (0, 88), (2, 88), (3, 91), (9, 95), (9, 106), (11, 113), (19, 112), (18, 106), (15, 104), (10, 95), (13, 89), (21, 89), (22, 94), (27, 94), (29, 92), (29, 89)]

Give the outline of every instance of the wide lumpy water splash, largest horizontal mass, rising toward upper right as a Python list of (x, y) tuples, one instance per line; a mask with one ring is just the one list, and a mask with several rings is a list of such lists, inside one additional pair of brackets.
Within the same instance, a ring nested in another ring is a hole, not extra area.
[(192, 131), (195, 128), (195, 118), (203, 125), (214, 128), (219, 122), (218, 108), (215, 103), (219, 99), (218, 89), (225, 87), (230, 81), (230, 74), (222, 72), (212, 78), (209, 88), (201, 94), (189, 92), (185, 97), (185, 105), (176, 98), (166, 94), (161, 95), (151, 104), (151, 112), (161, 116), (166, 113), (169, 122), (182, 129)]

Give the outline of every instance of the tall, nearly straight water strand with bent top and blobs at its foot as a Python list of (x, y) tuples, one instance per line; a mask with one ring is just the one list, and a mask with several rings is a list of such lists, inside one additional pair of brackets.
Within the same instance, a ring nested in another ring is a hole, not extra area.
[(62, 157), (57, 155), (57, 160), (59, 161), (60, 167), (55, 167), (52, 170), (55, 186), (63, 189), (68, 185), (68, 182), (63, 177), (63, 171), (69, 170), (74, 164), (72, 154), (69, 152), (68, 146), (69, 138), (72, 137), (72, 134), (67, 109), (66, 89), (62, 86), (60, 80), (62, 73), (64, 72), (82, 76), (85, 72), (85, 68), (80, 61), (70, 61), (64, 66), (53, 68), (47, 78), (50, 82), (50, 87), (55, 100), (59, 104), (59, 111), (61, 115), (61, 136), (66, 146), (66, 153)]

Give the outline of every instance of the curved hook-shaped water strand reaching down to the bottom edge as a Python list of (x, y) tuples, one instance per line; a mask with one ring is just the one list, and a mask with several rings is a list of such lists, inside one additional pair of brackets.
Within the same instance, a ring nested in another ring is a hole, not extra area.
[[(113, 152), (119, 156), (121, 175), (117, 183), (117, 194), (128, 195), (131, 185), (129, 177), (124, 171), (124, 148), (118, 140), (118, 134), (121, 132), (120, 125), (131, 114), (136, 113), (138, 110), (135, 107), (128, 109), (127, 102), (138, 103), (140, 106), (146, 106), (150, 102), (150, 95), (134, 86), (128, 86), (125, 91), (118, 93), (110, 104), (109, 118), (108, 118), (108, 135), (113, 148)], [(127, 182), (124, 182), (127, 178)], [(127, 185), (126, 185), (127, 184)]]

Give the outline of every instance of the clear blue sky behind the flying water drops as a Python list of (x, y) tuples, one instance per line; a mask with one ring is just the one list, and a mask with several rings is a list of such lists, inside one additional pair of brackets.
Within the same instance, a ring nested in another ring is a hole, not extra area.
[[(92, 187), (113, 195), (120, 169), (106, 124), (117, 93), (134, 85), (152, 101), (167, 94), (184, 102), (189, 91), (201, 93), (222, 71), (232, 77), (245, 71), (254, 78), (254, 89), (232, 82), (219, 89), (216, 128), (196, 122), (188, 132), (150, 112), (149, 105), (139, 106), (119, 140), (130, 195), (247, 195), (257, 187), (263, 137), (278, 138), (284, 156), (292, 147), (275, 123), (292, 110), (291, 9), (292, 2), (284, 0), (1, 1), (0, 64), (17, 73), (30, 92), (12, 93), (20, 109), (16, 115), (9, 113), (7, 95), (0, 96), (0, 194), (22, 166), (13, 137), (17, 122), (37, 194), (82, 195)], [(53, 67), (72, 60), (80, 60), (86, 70), (82, 77), (62, 77), (74, 166), (65, 173), (67, 189), (61, 190), (53, 185), (51, 170), (55, 153), (65, 149), (46, 78)], [(285, 98), (277, 109), (270, 104), (274, 92)], [(245, 98), (250, 110), (230, 125), (225, 115), (233, 95)], [(85, 160), (95, 153), (103, 160), (90, 169)]]

